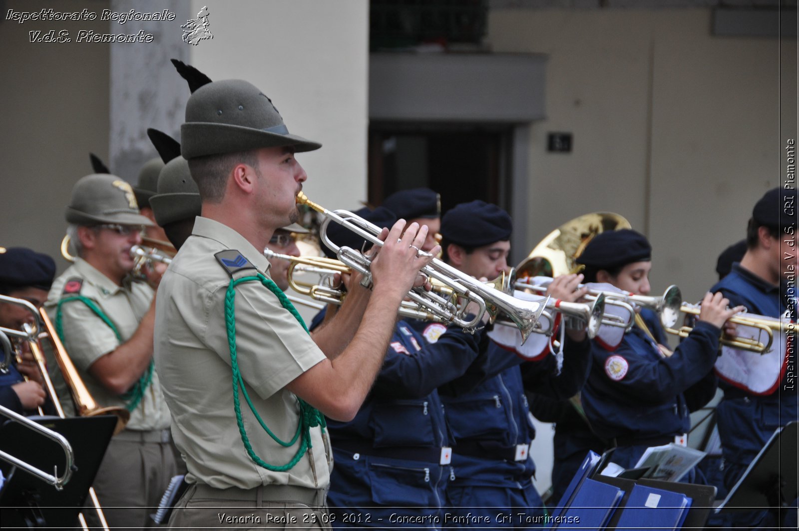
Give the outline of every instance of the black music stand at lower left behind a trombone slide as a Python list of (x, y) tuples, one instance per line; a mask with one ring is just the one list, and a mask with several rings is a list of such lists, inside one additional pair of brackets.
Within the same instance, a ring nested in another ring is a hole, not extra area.
[[(78, 513), (84, 510), (86, 494), (100, 468), (117, 417), (29, 418), (70, 441), (78, 469), (58, 491), (25, 470), (13, 465), (4, 467), (6, 482), (0, 490), (3, 527), (74, 527)], [(58, 475), (64, 473), (61, 446), (17, 422), (0, 425), (0, 449), (38, 469), (58, 466)]]

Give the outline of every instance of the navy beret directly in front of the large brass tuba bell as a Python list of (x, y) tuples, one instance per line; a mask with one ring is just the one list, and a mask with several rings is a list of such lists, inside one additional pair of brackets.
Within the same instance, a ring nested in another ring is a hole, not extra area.
[(646, 236), (622, 229), (606, 230), (594, 236), (576, 262), (597, 269), (611, 269), (651, 259), (652, 246)]

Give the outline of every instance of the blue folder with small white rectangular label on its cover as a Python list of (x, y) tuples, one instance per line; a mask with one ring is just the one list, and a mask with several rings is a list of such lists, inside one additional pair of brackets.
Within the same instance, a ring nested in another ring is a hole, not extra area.
[(622, 516), (616, 528), (626, 531), (680, 529), (690, 506), (691, 498), (683, 493), (635, 485), (621, 509)]

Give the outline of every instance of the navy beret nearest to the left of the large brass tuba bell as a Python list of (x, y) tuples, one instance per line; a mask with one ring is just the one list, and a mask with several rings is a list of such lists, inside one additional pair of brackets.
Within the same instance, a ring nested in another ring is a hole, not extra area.
[(448, 243), (463, 247), (482, 247), (511, 239), (511, 216), (479, 199), (461, 203), (441, 218), (441, 235)]

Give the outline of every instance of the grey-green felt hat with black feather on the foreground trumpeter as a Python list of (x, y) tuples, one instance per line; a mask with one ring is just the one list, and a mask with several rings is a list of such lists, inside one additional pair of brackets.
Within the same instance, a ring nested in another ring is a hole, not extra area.
[(318, 150), (322, 145), (289, 134), (272, 100), (241, 79), (212, 82), (193, 66), (172, 60), (192, 95), (181, 126), (181, 153), (186, 159), (293, 146), (296, 152)]

